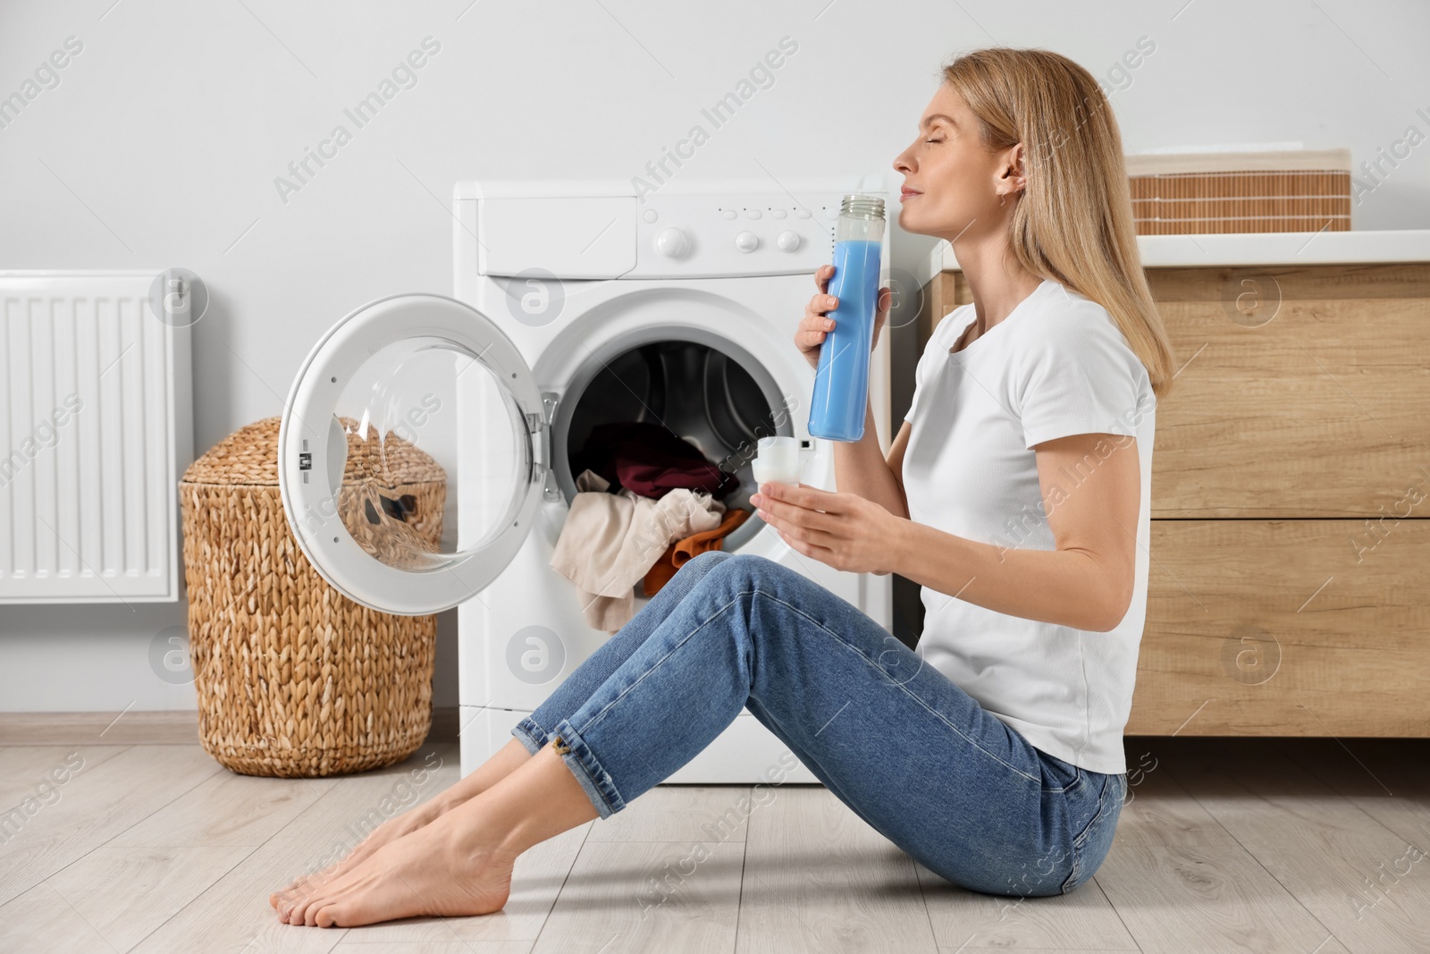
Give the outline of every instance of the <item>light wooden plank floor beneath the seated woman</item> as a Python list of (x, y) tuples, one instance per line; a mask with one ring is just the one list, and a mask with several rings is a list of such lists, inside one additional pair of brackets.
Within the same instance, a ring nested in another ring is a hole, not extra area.
[(0, 835), (0, 951), (1430, 951), (1423, 739), (1128, 738), (1113, 851), (1055, 898), (951, 885), (821, 787), (734, 831), (711, 822), (748, 787), (659, 787), (522, 855), (500, 913), (322, 930), (269, 891), (455, 781), (456, 747), (250, 778), (192, 728), (113, 715), (0, 717), (0, 805), (34, 810)]

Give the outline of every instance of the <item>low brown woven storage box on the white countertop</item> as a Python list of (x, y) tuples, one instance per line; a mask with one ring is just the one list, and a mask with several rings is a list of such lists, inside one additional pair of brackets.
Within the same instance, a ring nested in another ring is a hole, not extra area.
[(1346, 232), (1350, 150), (1127, 156), (1137, 235)]

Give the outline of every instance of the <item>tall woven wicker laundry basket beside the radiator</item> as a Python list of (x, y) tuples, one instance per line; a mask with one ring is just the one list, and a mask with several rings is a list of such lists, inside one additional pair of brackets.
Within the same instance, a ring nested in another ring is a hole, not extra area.
[[(436, 551), (442, 468), (395, 435), (359, 441), (345, 423), (339, 511), (349, 532), (382, 558), (378, 541), (390, 545), (400, 523)], [(283, 513), (277, 432), (279, 418), (236, 431), (179, 485), (199, 739), (245, 775), (389, 765), (416, 751), (432, 725), (436, 616), (368, 609), (317, 575)], [(370, 503), (375, 486), (386, 513)], [(395, 501), (400, 521), (390, 519)], [(385, 533), (375, 533), (379, 522)]]

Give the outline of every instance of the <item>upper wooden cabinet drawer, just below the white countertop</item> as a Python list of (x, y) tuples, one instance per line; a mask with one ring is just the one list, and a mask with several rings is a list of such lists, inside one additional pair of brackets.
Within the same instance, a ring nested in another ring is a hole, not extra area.
[(1154, 518), (1379, 516), (1430, 478), (1430, 265), (1147, 275), (1180, 368)]

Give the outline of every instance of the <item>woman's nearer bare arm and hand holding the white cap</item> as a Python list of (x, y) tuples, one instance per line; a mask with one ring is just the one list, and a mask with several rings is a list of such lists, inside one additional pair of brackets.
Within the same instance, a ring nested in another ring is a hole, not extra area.
[[(1098, 453), (1107, 448), (1111, 453)], [(995, 612), (1107, 632), (1133, 599), (1141, 495), (1137, 441), (1080, 433), (1034, 451), (1051, 551), (980, 544), (851, 493), (772, 483), (769, 493), (751, 502), (792, 548), (835, 569), (892, 571)], [(1088, 476), (1061, 491), (1061, 469), (1088, 472), (1090, 461)]]

